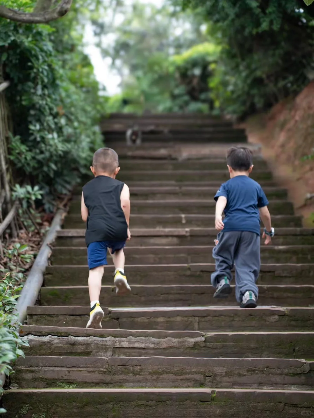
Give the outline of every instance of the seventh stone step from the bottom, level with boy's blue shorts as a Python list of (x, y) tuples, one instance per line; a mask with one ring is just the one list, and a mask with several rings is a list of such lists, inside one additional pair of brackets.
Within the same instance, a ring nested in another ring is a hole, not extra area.
[[(134, 247), (130, 241), (124, 248), (128, 264), (190, 264), (214, 263), (214, 245)], [(310, 263), (314, 245), (262, 246), (262, 263)], [(51, 255), (53, 265), (85, 265), (86, 247), (54, 247)], [(108, 253), (108, 263), (112, 258)]]

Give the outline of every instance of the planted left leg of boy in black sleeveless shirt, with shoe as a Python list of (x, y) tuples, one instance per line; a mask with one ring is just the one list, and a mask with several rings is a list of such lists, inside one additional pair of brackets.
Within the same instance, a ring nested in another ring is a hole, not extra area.
[(92, 242), (87, 249), (88, 267), (88, 291), (90, 295), (90, 319), (86, 328), (101, 328), (104, 313), (100, 308), (99, 296), (101, 291), (101, 279), (103, 278), (103, 266), (107, 264), (107, 247), (105, 242)]

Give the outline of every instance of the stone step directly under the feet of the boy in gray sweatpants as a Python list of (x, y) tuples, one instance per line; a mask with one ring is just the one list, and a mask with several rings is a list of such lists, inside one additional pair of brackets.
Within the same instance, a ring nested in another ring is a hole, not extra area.
[[(312, 331), (314, 307), (103, 308), (103, 328), (159, 331)], [(28, 306), (28, 325), (84, 328), (88, 306)]]

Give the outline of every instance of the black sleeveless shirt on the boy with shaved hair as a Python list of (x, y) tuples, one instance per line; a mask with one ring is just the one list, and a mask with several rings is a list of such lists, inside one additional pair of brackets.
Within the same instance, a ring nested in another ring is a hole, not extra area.
[(124, 183), (108, 176), (97, 176), (83, 187), (88, 208), (85, 241), (125, 241), (128, 224), (121, 208), (120, 195)]

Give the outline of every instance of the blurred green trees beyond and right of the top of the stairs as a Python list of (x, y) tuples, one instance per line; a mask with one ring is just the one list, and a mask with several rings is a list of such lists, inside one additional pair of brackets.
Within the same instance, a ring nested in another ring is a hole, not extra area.
[[(124, 18), (117, 25), (96, 22), (100, 40), (115, 33), (111, 45), (100, 42), (122, 77), (113, 109), (244, 117), (298, 93), (311, 79), (314, 4), (168, 0), (159, 9), (123, 2), (119, 8)], [(212, 49), (194, 54), (206, 44)]]

